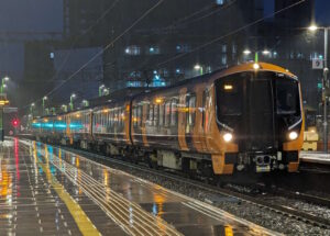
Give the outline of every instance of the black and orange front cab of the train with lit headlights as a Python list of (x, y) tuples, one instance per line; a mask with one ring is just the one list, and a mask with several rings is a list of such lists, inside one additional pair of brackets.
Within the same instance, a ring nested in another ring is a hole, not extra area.
[(233, 67), (211, 88), (206, 141), (216, 175), (294, 172), (304, 139), (300, 85), (270, 64)]

